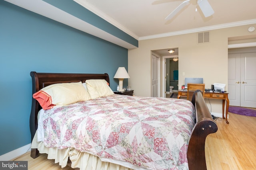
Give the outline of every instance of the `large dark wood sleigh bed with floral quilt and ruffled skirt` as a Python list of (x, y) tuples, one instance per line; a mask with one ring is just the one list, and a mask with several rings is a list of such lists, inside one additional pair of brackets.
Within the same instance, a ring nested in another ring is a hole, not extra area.
[[(86, 84), (89, 80), (104, 80), (108, 86), (110, 83), (106, 73), (30, 72), (30, 76), (32, 94), (60, 83)], [(63, 122), (69, 124), (61, 126)], [(217, 130), (200, 91), (194, 93), (192, 103), (183, 99), (110, 94), (50, 109), (42, 109), (33, 97), (31, 157), (47, 153), (48, 159), (55, 159), (62, 167), (89, 170), (204, 170), (205, 140)]]

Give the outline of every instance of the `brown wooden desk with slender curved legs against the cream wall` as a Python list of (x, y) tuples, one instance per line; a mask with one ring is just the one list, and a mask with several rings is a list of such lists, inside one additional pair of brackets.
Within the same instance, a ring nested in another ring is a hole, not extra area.
[[(187, 97), (187, 92), (183, 90), (178, 91), (178, 99), (180, 97)], [(228, 100), (228, 93), (214, 93), (214, 92), (205, 92), (204, 98), (206, 99), (222, 99), (222, 118), (226, 120), (228, 124), (228, 107), (229, 107), (229, 100)], [(226, 118), (224, 117), (224, 108), (225, 108), (225, 101), (227, 103), (226, 106)]]

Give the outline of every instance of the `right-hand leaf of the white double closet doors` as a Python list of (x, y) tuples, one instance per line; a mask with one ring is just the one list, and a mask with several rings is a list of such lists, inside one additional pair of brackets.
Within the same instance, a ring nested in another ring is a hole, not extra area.
[(256, 53), (241, 53), (242, 107), (256, 107)]

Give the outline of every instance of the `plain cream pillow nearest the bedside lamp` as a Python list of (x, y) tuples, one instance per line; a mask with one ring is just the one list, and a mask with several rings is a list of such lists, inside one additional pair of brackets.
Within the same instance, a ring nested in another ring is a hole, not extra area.
[(92, 99), (105, 97), (114, 94), (109, 87), (109, 84), (104, 79), (90, 79), (86, 80), (87, 90)]

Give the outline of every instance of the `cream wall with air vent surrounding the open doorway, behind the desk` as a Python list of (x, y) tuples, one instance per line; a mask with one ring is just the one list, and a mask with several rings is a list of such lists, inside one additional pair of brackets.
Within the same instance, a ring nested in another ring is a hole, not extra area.
[[(197, 33), (141, 40), (137, 49), (128, 50), (128, 84), (135, 96), (150, 96), (151, 51), (170, 48), (179, 49), (179, 88), (185, 77), (203, 77), (206, 88), (213, 83), (228, 84), (228, 38), (255, 37), (255, 31), (248, 31), (250, 26), (256, 24), (210, 30), (210, 43), (203, 44), (197, 44)], [(221, 100), (210, 102), (212, 112), (222, 113)]]

